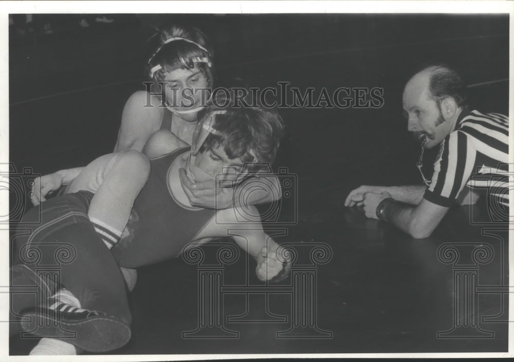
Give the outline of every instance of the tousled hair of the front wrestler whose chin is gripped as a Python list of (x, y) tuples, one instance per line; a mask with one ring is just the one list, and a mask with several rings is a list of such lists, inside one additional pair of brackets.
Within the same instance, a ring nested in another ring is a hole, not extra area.
[[(240, 92), (242, 88), (237, 88)], [(215, 117), (210, 133), (199, 152), (212, 150), (220, 145), (230, 159), (240, 158), (243, 162), (271, 164), (284, 133), (284, 122), (275, 108), (265, 107), (247, 96), (236, 97), (235, 88), (225, 88), (225, 92), (215, 92), (214, 99), (206, 110), (198, 115), (199, 125), (209, 117)], [(239, 93), (241, 95), (241, 93)], [(242, 101), (244, 100), (244, 102)], [(250, 106), (245, 106), (250, 105)], [(225, 113), (212, 115), (222, 110)], [(253, 153), (253, 155), (252, 155)]]

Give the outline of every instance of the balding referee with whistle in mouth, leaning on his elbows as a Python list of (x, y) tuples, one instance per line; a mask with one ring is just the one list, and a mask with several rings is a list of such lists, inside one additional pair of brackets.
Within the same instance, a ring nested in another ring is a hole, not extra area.
[(368, 218), (386, 220), (413, 238), (429, 237), (452, 205), (470, 203), (476, 188), (488, 188), (494, 202), (508, 207), (508, 117), (470, 111), (466, 86), (446, 65), (416, 73), (402, 99), (408, 130), (422, 150), (439, 147), (432, 179), (421, 172), (425, 185), (360, 186), (344, 205), (363, 205)]

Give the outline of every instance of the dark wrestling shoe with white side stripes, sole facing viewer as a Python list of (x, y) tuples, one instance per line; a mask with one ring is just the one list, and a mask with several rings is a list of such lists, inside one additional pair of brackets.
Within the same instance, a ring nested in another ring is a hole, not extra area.
[[(108, 352), (124, 346), (131, 337), (128, 324), (98, 311), (49, 299), (46, 306), (30, 307), (21, 312), (30, 317), (22, 328), (41, 337), (63, 339), (86, 352)], [(75, 333), (75, 336), (73, 336)]]

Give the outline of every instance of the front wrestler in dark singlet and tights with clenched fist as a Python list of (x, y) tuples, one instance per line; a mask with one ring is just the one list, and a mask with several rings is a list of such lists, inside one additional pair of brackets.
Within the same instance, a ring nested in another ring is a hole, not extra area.
[[(64, 194), (42, 204), (41, 224), (15, 240), (12, 286), (35, 282), (44, 289), (42, 295), (50, 296), (38, 306), (33, 305), (30, 295), (13, 296), (13, 317), (30, 317), (22, 322), (26, 331), (51, 335), (54, 341), (72, 343), (78, 350), (90, 352), (123, 346), (131, 335), (132, 317), (118, 265), (137, 268), (176, 257), (191, 242), (208, 242), (226, 237), (228, 229), (241, 229), (237, 227), (238, 215), (258, 214), (248, 205), (223, 210), (191, 205), (179, 172), (185, 170), (186, 177), (194, 179), (214, 178), (223, 188), (245, 187), (251, 182), (248, 179), (256, 179), (251, 174), (258, 174), (276, 155), (283, 133), (279, 114), (264, 107), (219, 109), (211, 104), (199, 117), (192, 149), (172, 149), (171, 143), (159, 142), (169, 134), (156, 133), (145, 147), (152, 157), (150, 170), (144, 162), (125, 166), (126, 179), (148, 177), (148, 182), (135, 200), (134, 217), (120, 242), (113, 245), (102, 240), (89, 221), (87, 209), (94, 196), (90, 191)], [(95, 169), (108, 168), (118, 155), (91, 162), (77, 182), (83, 175), (95, 174)], [(118, 188), (123, 190), (123, 183)], [(30, 225), (39, 217), (39, 210), (34, 208), (24, 216), (23, 224)], [(242, 229), (233, 238), (256, 259), (259, 279), (281, 280), (287, 276), (288, 261), (280, 257), (277, 243), (260, 223), (252, 222), (251, 229)], [(76, 251), (75, 259), (62, 266), (60, 284), (41, 280), (27, 258), (31, 250), (42, 245), (51, 245), (40, 248), (46, 250), (45, 257), (64, 245)], [(39, 318), (47, 321), (44, 328), (35, 328)], [(62, 340), (63, 330), (75, 332), (76, 338)]]

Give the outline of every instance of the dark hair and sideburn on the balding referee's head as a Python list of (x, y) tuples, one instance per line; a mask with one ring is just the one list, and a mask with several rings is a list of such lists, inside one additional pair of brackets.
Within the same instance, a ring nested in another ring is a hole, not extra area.
[(431, 98), (440, 108), (441, 102), (452, 97), (458, 107), (466, 106), (467, 87), (458, 73), (446, 64), (430, 67), (429, 91)]

